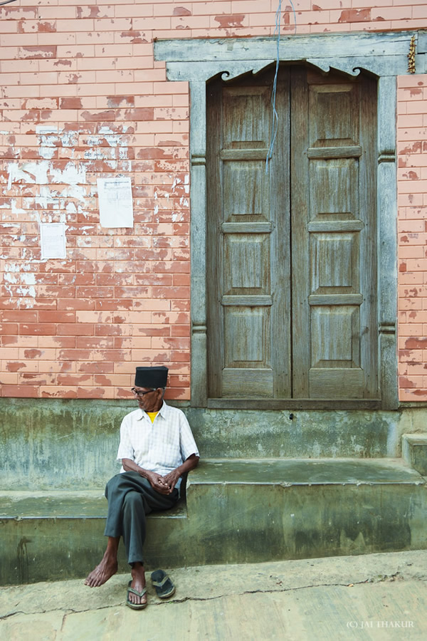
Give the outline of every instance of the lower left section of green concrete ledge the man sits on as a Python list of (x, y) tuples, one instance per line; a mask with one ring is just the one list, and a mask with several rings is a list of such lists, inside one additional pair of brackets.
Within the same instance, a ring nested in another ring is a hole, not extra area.
[[(106, 516), (103, 489), (1, 491), (0, 585), (88, 575), (105, 550)], [(184, 500), (169, 511), (149, 514), (146, 548), (149, 566), (167, 567), (169, 560), (175, 562), (180, 558), (175, 547), (181, 541), (186, 519)], [(128, 570), (124, 548), (120, 546), (119, 572)]]

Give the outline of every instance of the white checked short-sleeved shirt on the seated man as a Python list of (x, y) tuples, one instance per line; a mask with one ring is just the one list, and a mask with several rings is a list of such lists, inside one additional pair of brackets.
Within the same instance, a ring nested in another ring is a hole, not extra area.
[[(122, 420), (117, 460), (131, 459), (139, 467), (164, 476), (183, 464), (191, 454), (198, 457), (199, 450), (184, 412), (177, 407), (163, 402), (153, 423), (139, 408)], [(120, 471), (125, 469), (122, 467)]]

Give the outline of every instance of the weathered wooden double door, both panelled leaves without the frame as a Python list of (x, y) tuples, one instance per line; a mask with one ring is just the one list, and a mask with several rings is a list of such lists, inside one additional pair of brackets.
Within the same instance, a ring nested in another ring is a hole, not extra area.
[(377, 399), (376, 82), (280, 67), (266, 167), (273, 78), (207, 87), (209, 397)]

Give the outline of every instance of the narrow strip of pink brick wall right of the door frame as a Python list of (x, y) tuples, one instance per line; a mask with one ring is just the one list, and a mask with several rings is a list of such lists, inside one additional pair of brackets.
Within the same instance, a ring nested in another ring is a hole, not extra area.
[(427, 400), (427, 75), (398, 84), (399, 397)]

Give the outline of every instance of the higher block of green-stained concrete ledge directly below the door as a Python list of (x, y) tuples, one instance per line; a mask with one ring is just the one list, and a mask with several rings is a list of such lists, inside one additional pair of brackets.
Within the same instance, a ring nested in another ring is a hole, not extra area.
[(201, 563), (426, 548), (426, 499), (402, 459), (217, 459), (187, 483)]

